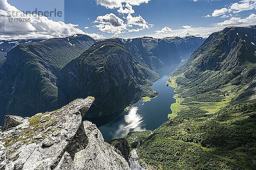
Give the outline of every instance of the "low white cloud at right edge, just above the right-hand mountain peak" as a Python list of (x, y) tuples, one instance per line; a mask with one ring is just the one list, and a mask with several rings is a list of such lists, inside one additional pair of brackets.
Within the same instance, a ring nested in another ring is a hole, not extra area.
[(241, 24), (255, 24), (256, 14), (250, 14), (246, 18), (241, 17), (231, 17), (230, 20), (225, 20), (224, 22), (218, 23), (219, 26), (236, 26)]

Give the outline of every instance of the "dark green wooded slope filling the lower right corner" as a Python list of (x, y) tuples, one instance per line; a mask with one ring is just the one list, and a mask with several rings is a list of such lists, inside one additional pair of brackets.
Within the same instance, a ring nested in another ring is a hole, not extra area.
[[(193, 115), (193, 116), (192, 116)], [(138, 149), (156, 169), (256, 168), (256, 103), (216, 114), (183, 113), (161, 125)]]

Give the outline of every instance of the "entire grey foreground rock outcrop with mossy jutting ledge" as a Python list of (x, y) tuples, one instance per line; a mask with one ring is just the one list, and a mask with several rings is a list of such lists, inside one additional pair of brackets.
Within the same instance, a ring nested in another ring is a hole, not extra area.
[(76, 99), (1, 132), (6, 170), (129, 170), (127, 161), (104, 142), (97, 127), (82, 122), (93, 101), (93, 97)]

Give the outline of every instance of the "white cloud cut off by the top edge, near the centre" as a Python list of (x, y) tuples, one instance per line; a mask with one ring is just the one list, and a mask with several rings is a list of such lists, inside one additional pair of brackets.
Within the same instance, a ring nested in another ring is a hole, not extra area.
[(139, 6), (141, 3), (148, 3), (150, 0), (96, 0), (96, 3), (107, 8), (121, 8), (122, 3), (129, 3), (131, 6)]

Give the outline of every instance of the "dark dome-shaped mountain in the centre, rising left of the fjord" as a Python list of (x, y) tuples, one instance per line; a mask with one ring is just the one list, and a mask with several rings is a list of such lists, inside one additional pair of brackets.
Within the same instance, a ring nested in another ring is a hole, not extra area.
[(158, 75), (136, 51), (120, 40), (100, 41), (59, 71), (58, 100), (61, 104), (78, 97), (95, 96), (86, 116), (98, 117), (120, 111), (142, 96), (155, 96), (150, 88)]

